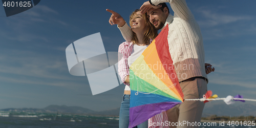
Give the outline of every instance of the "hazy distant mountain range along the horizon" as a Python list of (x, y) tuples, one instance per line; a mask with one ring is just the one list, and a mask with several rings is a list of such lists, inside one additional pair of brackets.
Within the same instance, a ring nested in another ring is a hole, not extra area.
[[(48, 112), (48, 113), (70, 113), (70, 114), (88, 114), (88, 115), (110, 115), (119, 116), (120, 108), (96, 112), (93, 110), (85, 109), (79, 106), (66, 106), (66, 105), (49, 105), (44, 109), (22, 108), (22, 109), (3, 109), (1, 111), (17, 111), (17, 112)], [(210, 115), (217, 116), (256, 116), (256, 104), (242, 103), (240, 105), (231, 104), (227, 105), (224, 102), (207, 102), (204, 107), (202, 117)]]

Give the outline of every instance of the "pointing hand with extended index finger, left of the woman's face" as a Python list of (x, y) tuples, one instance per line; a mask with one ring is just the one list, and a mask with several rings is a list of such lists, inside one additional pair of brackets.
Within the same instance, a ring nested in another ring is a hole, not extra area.
[(123, 25), (125, 24), (125, 21), (121, 15), (119, 15), (118, 13), (116, 13), (110, 9), (106, 9), (106, 11), (112, 13), (110, 20), (109, 20), (110, 25), (117, 24), (118, 27), (123, 27)]

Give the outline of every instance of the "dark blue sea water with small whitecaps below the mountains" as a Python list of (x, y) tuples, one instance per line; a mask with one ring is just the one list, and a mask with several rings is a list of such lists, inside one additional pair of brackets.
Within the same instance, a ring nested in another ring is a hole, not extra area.
[[(117, 128), (118, 117), (108, 116), (89, 116), (72, 114), (49, 114), (49, 113), (31, 113), (31, 112), (0, 112), (0, 128)], [(228, 122), (228, 121), (227, 121)], [(256, 126), (243, 126), (241, 124), (219, 123), (215, 125), (202, 126), (200, 128), (252, 128)], [(210, 122), (206, 122), (210, 124)]]

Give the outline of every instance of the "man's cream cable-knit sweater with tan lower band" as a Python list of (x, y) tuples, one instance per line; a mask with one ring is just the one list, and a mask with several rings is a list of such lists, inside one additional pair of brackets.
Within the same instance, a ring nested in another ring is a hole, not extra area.
[[(201, 30), (186, 1), (152, 0), (151, 2), (154, 5), (168, 2), (174, 11), (174, 16), (169, 14), (167, 17), (164, 27), (168, 24), (169, 52), (179, 81), (196, 76), (207, 78)], [(126, 41), (132, 39), (132, 30), (127, 24), (119, 29)]]

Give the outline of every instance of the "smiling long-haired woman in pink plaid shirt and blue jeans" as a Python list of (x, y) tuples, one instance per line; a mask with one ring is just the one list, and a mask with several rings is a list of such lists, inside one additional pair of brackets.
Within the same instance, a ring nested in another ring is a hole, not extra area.
[[(115, 13), (111, 10), (107, 10), (111, 13)], [(119, 22), (118, 26), (123, 26), (125, 22)], [(120, 24), (123, 24), (120, 26)], [(113, 24), (112, 24), (113, 25)], [(131, 42), (123, 42), (118, 49), (118, 52), (122, 53), (122, 58), (119, 58), (118, 73), (126, 85), (124, 89), (123, 101), (120, 107), (119, 115), (119, 127), (129, 126), (129, 110), (130, 110), (130, 75), (129, 67), (132, 63), (142, 54), (142, 52), (150, 45), (152, 39), (155, 39), (158, 35), (157, 30), (146, 18), (145, 14), (141, 14), (140, 10), (135, 10), (130, 16), (130, 26), (133, 31), (133, 38)], [(147, 128), (147, 121), (138, 125), (138, 128)]]

